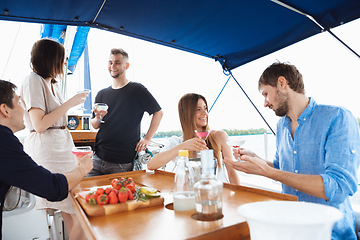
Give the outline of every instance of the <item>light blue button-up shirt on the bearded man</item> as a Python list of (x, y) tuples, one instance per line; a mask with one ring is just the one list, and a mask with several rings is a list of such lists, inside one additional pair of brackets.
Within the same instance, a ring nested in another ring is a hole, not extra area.
[(349, 196), (357, 190), (360, 162), (359, 124), (350, 111), (335, 106), (309, 105), (297, 119), (294, 138), (291, 119), (277, 124), (274, 167), (297, 174), (321, 175), (328, 200), (297, 191), (283, 184), (283, 192), (299, 201), (321, 203), (340, 209), (344, 218), (333, 229), (332, 239), (354, 239), (355, 223)]

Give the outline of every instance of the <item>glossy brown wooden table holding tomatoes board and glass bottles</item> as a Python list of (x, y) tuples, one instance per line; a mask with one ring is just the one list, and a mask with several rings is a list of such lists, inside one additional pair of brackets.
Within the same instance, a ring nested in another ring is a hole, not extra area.
[[(164, 206), (154, 206), (101, 217), (88, 217), (74, 198), (74, 190), (110, 184), (118, 177), (131, 176), (135, 183), (161, 191)], [(220, 220), (205, 222), (192, 218), (196, 210), (172, 210), (174, 174), (156, 170), (136, 171), (84, 178), (71, 191), (72, 203), (88, 239), (250, 239), (249, 228), (237, 208), (245, 203), (288, 200), (296, 196), (224, 183), (223, 215)]]

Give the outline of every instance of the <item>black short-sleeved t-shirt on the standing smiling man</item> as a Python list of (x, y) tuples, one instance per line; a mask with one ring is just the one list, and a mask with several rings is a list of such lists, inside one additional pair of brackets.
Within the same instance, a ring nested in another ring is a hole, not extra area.
[(106, 103), (108, 113), (103, 117), (95, 140), (95, 153), (104, 161), (130, 163), (140, 140), (140, 123), (144, 112), (152, 115), (161, 110), (151, 93), (140, 83), (129, 82), (120, 89), (105, 88), (98, 92), (95, 103)]

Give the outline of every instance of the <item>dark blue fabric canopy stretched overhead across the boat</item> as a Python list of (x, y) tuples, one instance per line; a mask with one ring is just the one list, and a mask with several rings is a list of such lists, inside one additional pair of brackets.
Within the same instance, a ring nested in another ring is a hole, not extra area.
[(210, 57), (233, 69), (360, 17), (359, 0), (281, 2), (1, 1), (0, 19), (105, 29)]

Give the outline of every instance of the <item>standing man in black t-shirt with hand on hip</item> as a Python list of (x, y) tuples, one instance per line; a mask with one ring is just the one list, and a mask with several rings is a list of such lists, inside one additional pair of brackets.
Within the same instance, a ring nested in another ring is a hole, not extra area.
[[(132, 171), (136, 152), (147, 148), (159, 127), (163, 116), (161, 107), (142, 84), (126, 78), (129, 66), (129, 56), (124, 50), (111, 50), (108, 69), (113, 83), (95, 97), (95, 103), (106, 103), (108, 110), (94, 109), (93, 112), (91, 124), (99, 131), (95, 140), (94, 168), (88, 177)], [(145, 137), (140, 139), (144, 112), (152, 115), (152, 119)]]

